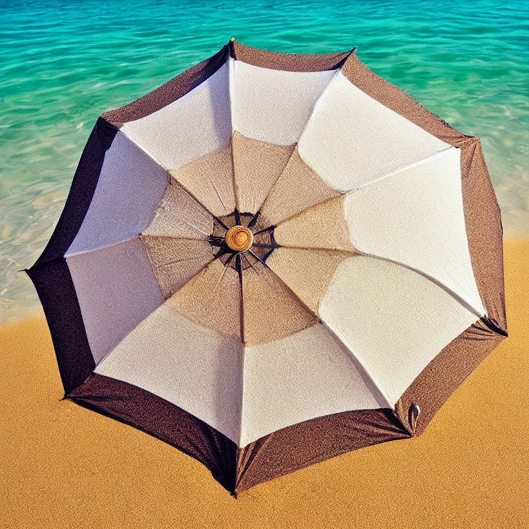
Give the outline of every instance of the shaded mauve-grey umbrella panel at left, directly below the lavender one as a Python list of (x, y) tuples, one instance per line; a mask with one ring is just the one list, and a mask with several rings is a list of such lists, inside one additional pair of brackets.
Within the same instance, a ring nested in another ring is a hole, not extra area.
[(66, 258), (96, 364), (163, 303), (138, 238)]

